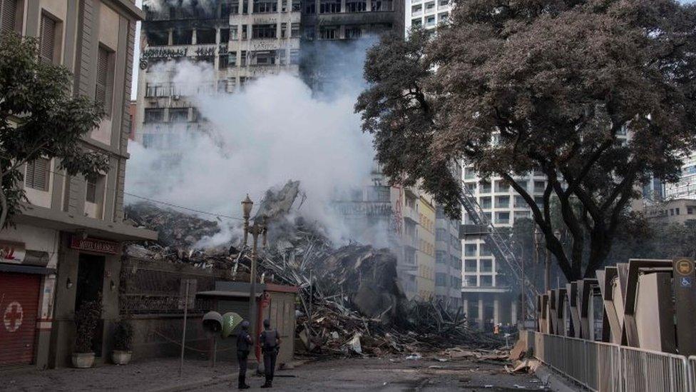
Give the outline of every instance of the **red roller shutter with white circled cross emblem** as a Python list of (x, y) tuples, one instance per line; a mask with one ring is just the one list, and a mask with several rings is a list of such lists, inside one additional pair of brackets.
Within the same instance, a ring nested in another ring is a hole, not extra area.
[(0, 272), (0, 365), (34, 360), (41, 276)]

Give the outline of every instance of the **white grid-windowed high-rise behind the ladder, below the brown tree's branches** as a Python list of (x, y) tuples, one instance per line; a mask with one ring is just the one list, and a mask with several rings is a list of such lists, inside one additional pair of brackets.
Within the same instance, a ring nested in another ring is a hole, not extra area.
[[(517, 180), (536, 203), (543, 203), (546, 177), (541, 172)], [(518, 219), (531, 218), (531, 209), (524, 198), (500, 177), (481, 179), (471, 166), (465, 166), (463, 181), (493, 226), (511, 227)], [(464, 224), (471, 223), (465, 212)], [(494, 323), (515, 324), (516, 293), (511, 292), (510, 282), (499, 278), (499, 271), (506, 266), (498, 263), (482, 236), (467, 236), (462, 240), (462, 260), (461, 292), (469, 320), (476, 321), (481, 328)]]

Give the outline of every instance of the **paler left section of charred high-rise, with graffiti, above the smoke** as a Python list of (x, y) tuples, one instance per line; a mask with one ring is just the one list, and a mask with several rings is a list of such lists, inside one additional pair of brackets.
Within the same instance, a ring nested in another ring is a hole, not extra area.
[[(192, 97), (226, 94), (265, 75), (300, 69), (300, 0), (217, 0), (145, 7), (135, 140), (167, 149), (186, 131), (208, 128)], [(195, 86), (176, 75), (204, 69)]]

